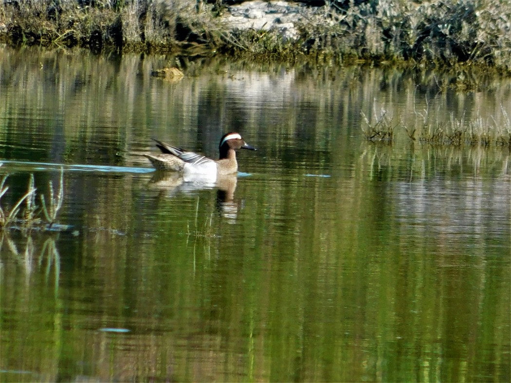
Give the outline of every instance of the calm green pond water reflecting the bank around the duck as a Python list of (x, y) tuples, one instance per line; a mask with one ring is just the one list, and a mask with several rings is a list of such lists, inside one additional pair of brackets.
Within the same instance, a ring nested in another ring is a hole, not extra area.
[[(508, 148), (360, 113), (509, 129), (508, 80), (0, 51), (2, 207), (64, 179), (59, 230), (0, 233), (2, 381), (509, 381)], [(258, 151), (220, 187), (141, 155), (233, 130)]]

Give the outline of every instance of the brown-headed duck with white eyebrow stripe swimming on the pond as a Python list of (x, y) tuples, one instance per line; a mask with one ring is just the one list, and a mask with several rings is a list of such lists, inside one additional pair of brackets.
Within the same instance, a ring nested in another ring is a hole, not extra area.
[(178, 172), (184, 181), (197, 177), (215, 181), (221, 176), (234, 175), (238, 172), (236, 151), (239, 149), (257, 150), (248, 145), (239, 133), (229, 132), (222, 136), (218, 150), (218, 160), (213, 160), (201, 154), (187, 152), (168, 143), (153, 140), (161, 154), (144, 154), (156, 170)]

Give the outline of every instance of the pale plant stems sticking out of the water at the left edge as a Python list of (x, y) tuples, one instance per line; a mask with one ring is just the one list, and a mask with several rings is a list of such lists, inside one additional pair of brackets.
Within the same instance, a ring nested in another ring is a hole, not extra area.
[[(36, 205), (36, 187), (34, 186), (34, 175), (31, 174), (29, 178), (29, 184), (27, 187), (27, 193), (17, 200), (13, 207), (8, 209), (2, 206), (2, 197), (9, 190), (9, 186), (5, 186), (9, 175), (2, 177), (0, 181), (0, 231), (4, 229), (13, 228), (14, 225), (19, 225), (22, 229), (45, 229), (51, 228), (57, 220), (57, 214), (62, 207), (62, 200), (64, 194), (64, 179), (63, 169), (60, 171), (60, 182), (58, 193), (55, 195), (53, 183), (49, 182), (50, 188), (50, 199), (47, 201), (44, 195), (41, 194), (41, 207)], [(25, 203), (25, 209), (21, 210)], [(42, 213), (42, 214), (41, 214)], [(46, 219), (42, 221), (40, 216), (43, 215)]]

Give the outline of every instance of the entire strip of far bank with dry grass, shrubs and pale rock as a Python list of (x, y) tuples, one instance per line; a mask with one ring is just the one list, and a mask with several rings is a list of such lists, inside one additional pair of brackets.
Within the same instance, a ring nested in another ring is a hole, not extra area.
[(2, 0), (0, 41), (511, 75), (508, 0)]

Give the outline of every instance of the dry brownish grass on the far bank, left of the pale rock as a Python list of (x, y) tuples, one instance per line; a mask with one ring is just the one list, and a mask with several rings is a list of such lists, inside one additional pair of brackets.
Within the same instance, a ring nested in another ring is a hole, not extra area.
[(194, 11), (194, 6), (195, 2), (180, 0), (2, 2), (0, 37), (13, 44), (78, 45), (94, 51), (103, 47), (171, 50), (180, 39), (199, 37), (200, 21), (213, 18)]

